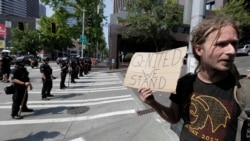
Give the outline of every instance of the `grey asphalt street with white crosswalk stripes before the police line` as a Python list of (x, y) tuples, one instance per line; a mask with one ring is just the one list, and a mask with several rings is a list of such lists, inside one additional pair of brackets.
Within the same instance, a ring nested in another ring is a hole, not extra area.
[(92, 71), (77, 83), (68, 83), (69, 88), (59, 89), (60, 68), (51, 62), (53, 74), (52, 97), (41, 100), (41, 79), (38, 68), (30, 72), (33, 90), (29, 91), (28, 107), (32, 113), (22, 113), (22, 120), (11, 118), (12, 95), (5, 95), (3, 88), (10, 83), (1, 82), (0, 136), (1, 140), (60, 140), (68, 136), (84, 133), (110, 123), (135, 117), (136, 111), (144, 106), (133, 91), (122, 85), (123, 76), (119, 72), (106, 73), (104, 65)]

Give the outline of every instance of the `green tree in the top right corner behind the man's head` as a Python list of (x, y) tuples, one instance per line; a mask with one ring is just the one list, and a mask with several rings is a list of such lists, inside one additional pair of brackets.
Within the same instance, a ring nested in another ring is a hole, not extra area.
[(246, 7), (245, 0), (230, 0), (222, 8), (216, 10), (219, 14), (229, 15), (234, 20), (239, 21), (242, 31), (240, 35), (241, 43), (247, 42), (250, 39), (250, 16)]

